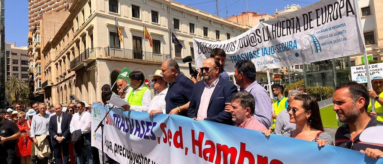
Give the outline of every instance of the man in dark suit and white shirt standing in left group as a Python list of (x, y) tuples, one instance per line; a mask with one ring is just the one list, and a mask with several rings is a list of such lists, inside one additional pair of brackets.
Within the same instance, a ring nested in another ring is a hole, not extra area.
[(54, 159), (56, 164), (67, 164), (69, 162), (69, 125), (72, 117), (68, 113), (62, 112), (61, 104), (54, 105), (54, 112), (56, 115), (51, 116), (48, 128), (54, 149)]

